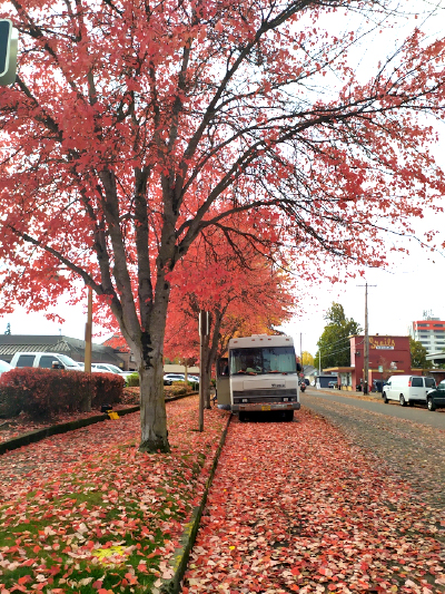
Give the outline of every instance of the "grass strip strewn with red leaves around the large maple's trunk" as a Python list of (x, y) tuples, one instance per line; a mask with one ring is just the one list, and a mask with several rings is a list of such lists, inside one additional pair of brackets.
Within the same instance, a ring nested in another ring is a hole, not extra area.
[(140, 454), (139, 413), (0, 456), (0, 593), (157, 592), (208, 479), (227, 412), (167, 405), (171, 454)]

